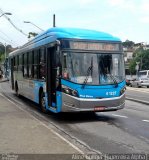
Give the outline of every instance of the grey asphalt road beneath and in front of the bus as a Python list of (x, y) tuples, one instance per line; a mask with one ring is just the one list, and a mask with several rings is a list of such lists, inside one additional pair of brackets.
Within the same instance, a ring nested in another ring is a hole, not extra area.
[[(126, 100), (125, 109), (117, 112), (43, 114), (34, 103), (16, 97), (7, 82), (0, 85), (7, 98), (83, 151), (102, 154), (149, 153), (148, 105)], [(127, 96), (132, 95), (131, 92), (127, 92)]]

